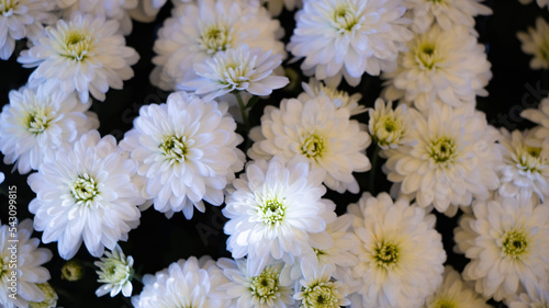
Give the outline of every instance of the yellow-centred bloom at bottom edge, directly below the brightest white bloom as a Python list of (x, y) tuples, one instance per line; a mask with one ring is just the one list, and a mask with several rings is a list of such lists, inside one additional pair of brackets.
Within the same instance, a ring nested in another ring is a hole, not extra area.
[(222, 258), (217, 265), (231, 281), (220, 286), (225, 290), (235, 308), (285, 308), (294, 300), (291, 281), (283, 280), (281, 272), (284, 263), (276, 261), (267, 265), (258, 275), (251, 275), (245, 259)]

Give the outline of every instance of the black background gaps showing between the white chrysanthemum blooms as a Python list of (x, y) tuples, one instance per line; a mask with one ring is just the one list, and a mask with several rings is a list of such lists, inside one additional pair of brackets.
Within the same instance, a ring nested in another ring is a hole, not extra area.
[[(523, 129), (531, 127), (531, 123), (519, 117), (524, 109), (536, 107), (542, 98), (549, 94), (549, 75), (547, 70), (531, 70), (529, 68), (530, 56), (523, 54), (520, 43), (516, 38), (516, 32), (526, 31), (528, 26), (535, 25), (535, 19), (539, 15), (549, 20), (548, 9), (540, 9), (536, 3), (522, 5), (517, 0), (491, 0), (484, 2), (494, 11), (491, 16), (480, 16), (477, 19), (477, 30), (479, 41), (486, 47), (488, 58), (492, 64), (493, 78), (488, 85), (490, 95), (478, 99), (478, 109), (486, 113), (490, 124), (507, 129)], [(160, 11), (157, 20), (153, 23), (144, 24), (134, 22), (134, 28), (126, 37), (127, 45), (134, 47), (141, 56), (139, 61), (133, 66), (135, 77), (124, 82), (123, 90), (110, 90), (104, 102), (94, 102), (91, 110), (100, 119), (99, 132), (102, 136), (111, 134), (119, 140), (123, 134), (132, 127), (133, 118), (138, 114), (142, 105), (152, 103), (163, 103), (166, 101), (168, 92), (161, 91), (149, 83), (149, 72), (153, 69), (150, 61), (155, 55), (152, 46), (156, 39), (156, 33), (163, 25), (164, 20), (169, 16), (171, 3), (167, 3)], [(294, 27), (293, 13), (283, 12), (281, 23), (285, 28), (285, 42), (292, 34)], [(24, 69), (16, 57), (25, 48), (24, 42), (19, 42), (13, 56), (7, 60), (0, 60), (0, 105), (8, 104), (8, 93), (10, 90), (19, 89), (26, 83), (31, 69)], [(284, 65), (300, 72), (299, 64)], [(301, 77), (304, 81), (307, 79)], [(300, 81), (298, 81), (300, 82)], [(298, 83), (299, 84), (299, 83)], [(344, 83), (341, 88), (350, 93), (362, 93), (361, 104), (372, 106), (374, 100), (381, 91), (381, 80), (378, 77), (366, 76), (357, 88), (350, 88)], [(268, 101), (260, 101), (251, 111), (251, 125), (259, 125), (259, 117), (266, 104), (278, 104), (282, 98), (293, 98), (301, 92), (301, 87), (292, 90), (276, 91)], [(362, 123), (367, 123), (367, 114), (356, 116)], [(369, 149), (369, 155), (373, 152), (373, 146)], [(0, 153), (0, 161), (3, 156)], [(380, 161), (383, 162), (383, 161)], [(362, 191), (378, 194), (388, 191), (390, 183), (379, 169), (376, 170), (374, 181), (370, 181), (370, 172), (357, 173), (356, 176)], [(0, 171), (4, 172), (7, 179), (0, 185), (0, 219), (5, 224), (8, 220), (8, 198), (5, 193), (8, 186), (16, 185), (18, 191), (18, 217), (32, 218), (27, 210), (27, 204), (35, 194), (26, 184), (26, 176), (16, 171), (11, 172), (12, 166), (0, 162)], [(349, 203), (358, 201), (360, 195), (327, 193), (326, 197), (337, 204), (338, 214), (346, 210)], [(456, 270), (461, 271), (468, 260), (452, 252), (453, 236), (452, 230), (457, 226), (460, 213), (453, 218), (437, 215), (437, 229), (442, 233), (445, 249), (448, 254), (447, 264), (451, 264)], [(226, 236), (223, 233), (225, 219), (220, 207), (209, 206), (204, 214), (194, 212), (194, 217), (189, 221), (181, 213), (176, 214), (171, 219), (167, 219), (153, 208), (142, 213), (141, 226), (130, 232), (130, 240), (121, 242), (126, 254), (133, 255), (135, 269), (139, 274), (154, 274), (167, 267), (171, 262), (190, 255), (211, 255), (214, 259), (231, 256), (225, 250)], [(34, 237), (41, 238), (41, 232), (35, 232)], [(59, 307), (131, 307), (130, 300), (121, 295), (110, 298), (105, 295), (97, 298), (94, 290), (100, 286), (97, 283), (97, 274), (91, 266), (96, 259), (91, 258), (82, 246), (77, 259), (89, 265), (86, 269), (85, 277), (78, 282), (66, 282), (60, 278), (60, 267), (65, 263), (58, 256), (57, 243), (45, 244), (54, 253), (52, 261), (46, 263), (46, 267), (52, 274), (51, 284), (59, 294)], [(134, 281), (134, 295), (141, 292), (142, 285)], [(495, 303), (492, 303), (495, 304)], [(504, 307), (495, 304), (496, 307)]]

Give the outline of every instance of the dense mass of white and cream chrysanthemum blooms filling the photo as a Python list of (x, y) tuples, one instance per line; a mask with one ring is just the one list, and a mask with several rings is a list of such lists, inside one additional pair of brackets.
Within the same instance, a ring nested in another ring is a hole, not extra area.
[[(119, 144), (90, 109), (134, 76), (132, 20), (166, 2), (0, 0), (0, 59), (26, 38), (14, 58), (34, 68), (0, 113), (0, 152), (34, 172), (35, 193), (33, 220), (10, 212), (0, 225), (1, 307), (57, 305), (34, 230), (65, 260), (83, 243), (96, 295), (135, 307), (549, 305), (549, 98), (522, 112), (530, 129), (496, 129), (477, 110), (492, 78), (481, 0), (173, 0), (148, 76), (171, 93), (135, 107)], [(292, 11), (284, 33), (277, 16)], [(549, 69), (549, 24), (517, 37), (531, 69)], [(307, 81), (284, 76), (292, 64)], [(373, 78), (376, 96), (348, 90)], [(278, 95), (291, 81), (303, 91)], [(392, 187), (372, 196), (379, 170)], [(358, 201), (340, 204), (345, 193)], [(210, 205), (232, 259), (178, 256), (133, 294), (141, 273), (119, 242), (145, 210), (192, 220)], [(458, 213), (461, 273), (445, 267), (435, 216)]]

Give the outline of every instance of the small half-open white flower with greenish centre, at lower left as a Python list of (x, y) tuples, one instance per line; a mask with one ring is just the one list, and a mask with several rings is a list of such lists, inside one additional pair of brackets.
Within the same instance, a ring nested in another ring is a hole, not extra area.
[(93, 262), (99, 267), (99, 283), (103, 283), (97, 290), (97, 296), (103, 296), (110, 293), (111, 297), (116, 296), (121, 290), (125, 297), (132, 296), (132, 278), (134, 275), (134, 259), (126, 256), (119, 244), (109, 252), (101, 261)]

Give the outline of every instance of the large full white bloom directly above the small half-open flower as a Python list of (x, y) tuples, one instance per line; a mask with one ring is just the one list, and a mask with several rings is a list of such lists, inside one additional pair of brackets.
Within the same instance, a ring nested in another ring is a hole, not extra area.
[(34, 228), (45, 243), (58, 241), (59, 255), (71, 259), (82, 241), (93, 256), (139, 224), (137, 205), (145, 202), (133, 178), (137, 163), (116, 146), (112, 136), (97, 130), (72, 147), (46, 153), (37, 173), (29, 175), (36, 197), (29, 204)]

